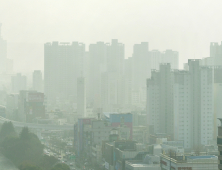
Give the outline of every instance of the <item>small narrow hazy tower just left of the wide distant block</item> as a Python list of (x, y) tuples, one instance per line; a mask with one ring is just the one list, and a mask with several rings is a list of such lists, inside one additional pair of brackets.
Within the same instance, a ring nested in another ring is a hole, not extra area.
[(41, 70), (35, 70), (32, 74), (33, 90), (43, 92), (43, 80)]

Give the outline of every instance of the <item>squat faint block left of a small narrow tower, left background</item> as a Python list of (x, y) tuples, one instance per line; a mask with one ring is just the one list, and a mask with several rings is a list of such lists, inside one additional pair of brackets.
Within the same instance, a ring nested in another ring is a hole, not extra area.
[(21, 73), (17, 73), (11, 77), (12, 93), (19, 93), (21, 90), (27, 89), (27, 78)]

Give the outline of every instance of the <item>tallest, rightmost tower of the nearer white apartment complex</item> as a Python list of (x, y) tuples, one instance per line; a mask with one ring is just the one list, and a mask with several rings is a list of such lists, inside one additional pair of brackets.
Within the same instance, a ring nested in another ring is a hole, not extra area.
[(191, 75), (192, 146), (208, 144), (214, 132), (213, 69), (201, 67), (200, 60), (188, 60)]

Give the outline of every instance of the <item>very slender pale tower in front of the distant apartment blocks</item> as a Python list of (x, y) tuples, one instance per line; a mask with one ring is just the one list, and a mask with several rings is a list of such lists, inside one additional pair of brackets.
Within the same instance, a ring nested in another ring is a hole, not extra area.
[(77, 79), (77, 114), (86, 117), (86, 87), (85, 78)]

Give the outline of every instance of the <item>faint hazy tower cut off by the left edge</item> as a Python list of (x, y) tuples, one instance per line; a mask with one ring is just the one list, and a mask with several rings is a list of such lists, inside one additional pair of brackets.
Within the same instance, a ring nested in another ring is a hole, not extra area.
[(6, 60), (7, 60), (7, 41), (2, 38), (0, 23), (0, 73), (6, 71)]

